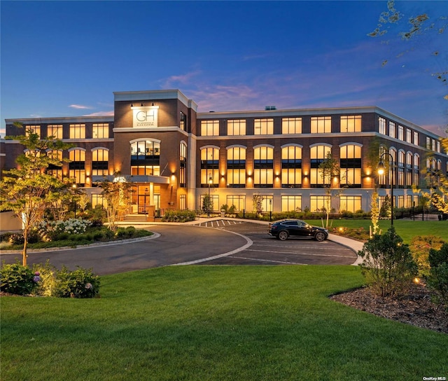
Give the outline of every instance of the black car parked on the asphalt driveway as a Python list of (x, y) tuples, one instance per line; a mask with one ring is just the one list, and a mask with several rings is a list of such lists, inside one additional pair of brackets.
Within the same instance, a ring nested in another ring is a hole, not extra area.
[(269, 235), (273, 235), (279, 240), (287, 240), (291, 237), (311, 237), (316, 241), (323, 241), (328, 238), (328, 230), (318, 226), (308, 225), (301, 220), (280, 220), (269, 224)]

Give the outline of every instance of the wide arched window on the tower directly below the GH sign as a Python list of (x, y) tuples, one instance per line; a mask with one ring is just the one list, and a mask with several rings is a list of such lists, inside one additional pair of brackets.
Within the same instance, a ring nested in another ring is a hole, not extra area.
[(131, 142), (131, 174), (160, 176), (160, 141)]

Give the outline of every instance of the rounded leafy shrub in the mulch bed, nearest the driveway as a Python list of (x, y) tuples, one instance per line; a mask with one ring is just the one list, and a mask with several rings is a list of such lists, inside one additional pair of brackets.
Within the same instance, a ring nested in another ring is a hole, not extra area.
[(417, 273), (409, 247), (402, 242), (392, 226), (384, 235), (374, 235), (358, 251), (367, 284), (382, 297), (406, 291)]

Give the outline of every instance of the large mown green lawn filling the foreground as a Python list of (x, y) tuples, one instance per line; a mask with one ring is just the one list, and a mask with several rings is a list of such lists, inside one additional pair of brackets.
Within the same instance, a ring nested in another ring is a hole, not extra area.
[(351, 266), (188, 266), (102, 277), (102, 298), (1, 297), (1, 380), (421, 380), (448, 335), (328, 296)]

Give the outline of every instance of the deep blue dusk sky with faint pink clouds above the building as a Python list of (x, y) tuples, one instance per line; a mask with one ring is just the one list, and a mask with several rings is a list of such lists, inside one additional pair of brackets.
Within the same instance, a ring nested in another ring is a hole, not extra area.
[[(199, 111), (379, 106), (444, 135), (447, 32), (371, 38), (386, 1), (1, 1), (5, 118), (113, 113), (179, 88)], [(407, 20), (448, 1), (398, 1)], [(437, 50), (437, 56), (432, 53)], [(404, 54), (400, 54), (403, 53)], [(383, 65), (384, 60), (387, 64)]]

